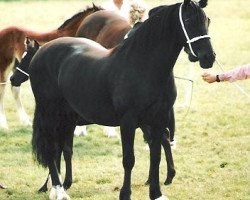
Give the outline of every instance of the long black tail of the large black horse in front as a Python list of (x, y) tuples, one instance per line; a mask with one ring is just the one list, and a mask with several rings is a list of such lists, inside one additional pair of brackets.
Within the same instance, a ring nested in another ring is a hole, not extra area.
[(50, 145), (53, 142), (53, 137), (49, 134), (49, 130), (51, 130), (48, 126), (52, 125), (52, 121), (48, 121), (49, 117), (45, 117), (42, 109), (36, 105), (34, 120), (33, 120), (33, 134), (32, 134), (32, 152), (34, 156), (34, 160), (37, 160), (39, 164), (43, 167), (48, 166), (49, 156), (55, 155), (50, 152), (53, 151), (53, 145)]

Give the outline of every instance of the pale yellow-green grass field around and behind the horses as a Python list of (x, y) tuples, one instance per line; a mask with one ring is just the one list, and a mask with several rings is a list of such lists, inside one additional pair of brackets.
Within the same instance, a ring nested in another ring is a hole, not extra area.
[[(48, 31), (59, 27), (91, 2), (1, 1), (0, 29), (20, 25)], [(94, 2), (102, 5), (103, 1)], [(146, 2), (152, 7), (175, 1)], [(205, 9), (211, 18), (210, 35), (217, 59), (225, 70), (249, 63), (249, 8), (250, 1), (246, 0), (209, 0)], [(214, 64), (209, 71), (216, 73), (221, 70)], [(162, 192), (171, 200), (249, 200), (250, 100), (231, 83), (209, 85), (203, 82), (202, 73), (198, 64), (189, 63), (185, 53), (180, 55), (175, 74), (194, 80), (193, 98), (187, 114), (188, 106), (183, 103), (188, 83), (177, 80), (177, 149), (173, 151), (177, 175), (171, 186), (163, 185), (166, 163), (162, 155)], [(249, 83), (249, 80), (238, 82), (250, 93)], [(22, 86), (22, 100), (32, 117), (34, 101), (28, 82)], [(32, 159), (32, 129), (19, 123), (9, 85), (6, 88), (5, 112), (9, 130), (0, 130), (0, 183), (8, 188), (0, 190), (0, 199), (48, 199), (48, 194), (36, 193), (45, 181), (47, 170)], [(74, 200), (118, 199), (123, 180), (120, 140), (106, 138), (100, 126), (89, 126), (88, 131), (88, 136), (74, 140), (74, 183), (68, 194)], [(149, 152), (145, 150), (139, 130), (135, 155), (132, 199), (145, 200), (148, 199), (148, 187), (144, 182), (148, 175)]]

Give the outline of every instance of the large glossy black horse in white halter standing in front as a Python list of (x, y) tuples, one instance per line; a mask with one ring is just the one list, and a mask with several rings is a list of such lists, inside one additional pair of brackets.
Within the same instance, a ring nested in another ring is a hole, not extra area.
[(64, 143), (73, 139), (80, 116), (84, 124), (121, 128), (125, 171), (121, 200), (131, 195), (135, 129), (149, 131), (150, 199), (164, 199), (159, 163), (169, 123), (166, 113), (176, 98), (170, 84), (174, 64), (183, 46), (189, 59), (199, 60), (203, 68), (212, 67), (215, 60), (208, 19), (201, 9), (206, 3), (185, 0), (155, 8), (134, 35), (113, 50), (87, 39), (61, 38), (36, 53), (30, 65), (36, 102), (32, 147), (37, 161), (49, 167), (55, 198), (68, 198), (56, 161)]

